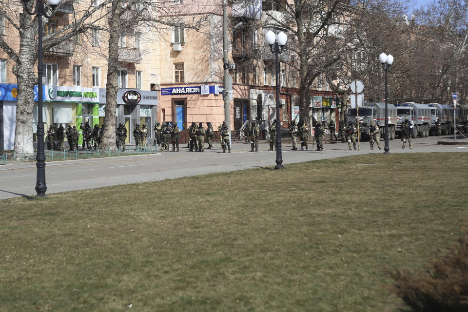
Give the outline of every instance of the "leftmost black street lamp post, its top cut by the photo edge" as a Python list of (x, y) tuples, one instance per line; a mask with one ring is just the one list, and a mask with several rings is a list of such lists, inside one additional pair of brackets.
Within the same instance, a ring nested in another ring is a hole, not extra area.
[(44, 123), (42, 121), (42, 16), (50, 19), (59, 5), (60, 0), (47, 0), (52, 8), (52, 14), (48, 15), (42, 0), (36, 2), (34, 12), (28, 10), (29, 0), (22, 0), (24, 11), (29, 15), (38, 15), (38, 154), (36, 155), (36, 197), (44, 197), (47, 186), (45, 185), (45, 155), (44, 155)]

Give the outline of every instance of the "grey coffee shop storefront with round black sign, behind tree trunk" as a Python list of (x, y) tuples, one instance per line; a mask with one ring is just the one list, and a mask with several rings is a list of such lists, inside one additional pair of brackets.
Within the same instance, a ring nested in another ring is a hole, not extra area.
[[(106, 89), (99, 89), (99, 125), (104, 122), (106, 111)], [(116, 125), (123, 123), (127, 129), (127, 143), (135, 143), (133, 130), (139, 124), (148, 128), (148, 144), (153, 144), (156, 124), (157, 91), (119, 89), (117, 91)]]

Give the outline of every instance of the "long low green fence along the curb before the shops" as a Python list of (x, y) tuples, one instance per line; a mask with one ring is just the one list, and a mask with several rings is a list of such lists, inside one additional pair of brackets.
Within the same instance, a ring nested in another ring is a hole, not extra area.
[[(115, 156), (130, 156), (130, 155), (147, 155), (156, 154), (157, 147), (152, 146), (137, 149), (126, 149), (125, 151), (119, 149), (107, 150), (84, 150), (84, 151), (46, 151), (44, 152), (45, 161), (58, 161), (58, 160), (71, 160), (71, 159), (87, 159), (87, 158), (100, 158), (100, 157), (115, 157)], [(13, 152), (13, 159), (19, 156), (17, 161), (36, 161), (37, 153), (15, 153)], [(1, 160), (1, 159), (0, 159)], [(1, 163), (1, 162), (0, 162)], [(5, 155), (6, 163), (6, 155)]]

